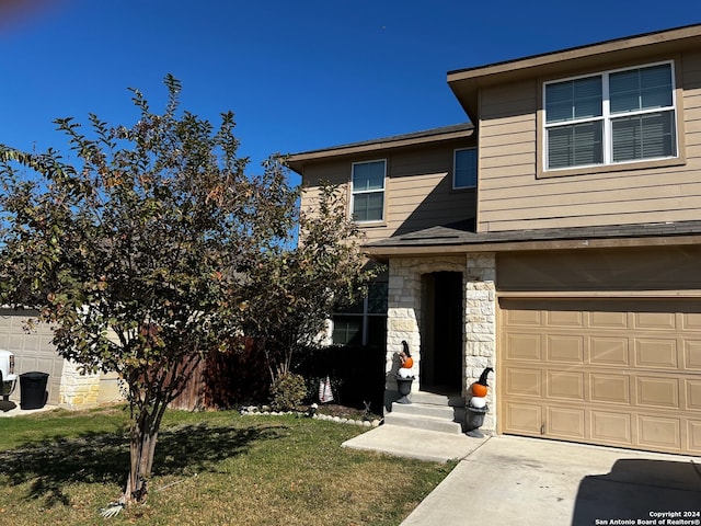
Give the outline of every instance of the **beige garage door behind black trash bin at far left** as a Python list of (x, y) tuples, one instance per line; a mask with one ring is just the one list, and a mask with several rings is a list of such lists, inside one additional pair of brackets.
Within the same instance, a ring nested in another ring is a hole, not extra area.
[[(24, 331), (23, 323), (27, 318), (12, 309), (0, 309), (0, 348), (14, 353), (19, 375), (33, 370), (48, 373), (48, 403), (58, 404), (64, 358), (50, 343), (53, 333), (48, 325), (41, 324), (30, 333)], [(10, 400), (19, 404), (19, 385)]]

